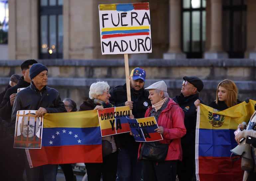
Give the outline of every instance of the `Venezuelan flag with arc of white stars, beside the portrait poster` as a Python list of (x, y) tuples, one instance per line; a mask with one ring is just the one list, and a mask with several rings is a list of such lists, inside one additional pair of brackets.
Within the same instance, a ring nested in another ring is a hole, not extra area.
[(26, 150), (30, 167), (102, 162), (97, 110), (44, 115), (42, 148)]

